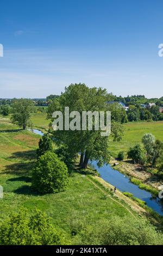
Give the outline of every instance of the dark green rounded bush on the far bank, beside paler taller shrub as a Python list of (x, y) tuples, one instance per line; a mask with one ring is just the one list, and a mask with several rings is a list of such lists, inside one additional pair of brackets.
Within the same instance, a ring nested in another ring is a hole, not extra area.
[(128, 159), (132, 159), (134, 163), (145, 163), (145, 150), (141, 144), (136, 144), (133, 148), (130, 148), (128, 151)]

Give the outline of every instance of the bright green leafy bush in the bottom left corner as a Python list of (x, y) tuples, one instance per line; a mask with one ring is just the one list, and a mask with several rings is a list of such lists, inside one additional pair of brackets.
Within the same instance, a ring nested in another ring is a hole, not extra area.
[(21, 209), (12, 213), (0, 226), (0, 245), (61, 245), (64, 237), (57, 232), (50, 219), (35, 210), (31, 216)]

